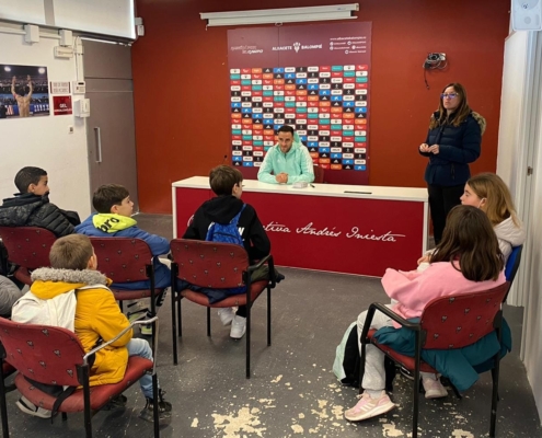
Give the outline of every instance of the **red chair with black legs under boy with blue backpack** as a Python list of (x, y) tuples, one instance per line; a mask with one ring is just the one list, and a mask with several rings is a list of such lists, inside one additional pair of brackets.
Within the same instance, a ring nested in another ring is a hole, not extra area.
[[(173, 336), (173, 364), (177, 365), (176, 327), (178, 322), (178, 337), (182, 336), (181, 300), (186, 298), (197, 304), (207, 307), (207, 336), (210, 332), (210, 309), (246, 306), (246, 379), (251, 378), (251, 308), (260, 295), (267, 290), (267, 345), (270, 338), (270, 289), (276, 285), (275, 266), (269, 254), (257, 264), (250, 265), (249, 254), (244, 247), (231, 243), (205, 242), (188, 239), (173, 239), (171, 241), (171, 316)], [(251, 274), (267, 264), (269, 279), (252, 283)], [(189, 289), (176, 290), (176, 279), (185, 280), (195, 286), (210, 289), (229, 289), (246, 286), (245, 293), (230, 296), (221, 301), (209, 303), (205, 293)], [(175, 319), (175, 301), (177, 321)]]

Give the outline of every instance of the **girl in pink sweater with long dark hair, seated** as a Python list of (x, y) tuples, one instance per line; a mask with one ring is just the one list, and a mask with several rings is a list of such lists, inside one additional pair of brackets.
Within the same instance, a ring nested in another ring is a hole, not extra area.
[[(455, 206), (450, 211), (442, 240), (428, 263), (429, 266), (422, 270), (388, 268), (382, 277), (384, 291), (392, 299), (388, 307), (404, 319), (420, 316), (425, 306), (435, 298), (483, 291), (506, 281), (503, 254), (492, 224), (483, 211), (471, 206)], [(366, 318), (367, 311), (358, 316), (358, 339)], [(377, 310), (371, 328), (391, 325), (399, 327)], [(420, 374), (426, 399), (447, 395), (435, 374)], [(366, 345), (361, 387), (365, 392), (353, 408), (345, 411), (346, 419), (359, 422), (384, 414), (395, 406), (384, 391), (384, 353), (371, 344)]]

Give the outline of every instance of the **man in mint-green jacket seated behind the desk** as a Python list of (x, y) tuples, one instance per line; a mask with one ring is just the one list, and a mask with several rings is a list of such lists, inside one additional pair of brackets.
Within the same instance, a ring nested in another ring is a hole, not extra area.
[(293, 184), (312, 183), (314, 170), (312, 158), (291, 126), (282, 126), (277, 134), (278, 143), (267, 151), (257, 178), (262, 183)]

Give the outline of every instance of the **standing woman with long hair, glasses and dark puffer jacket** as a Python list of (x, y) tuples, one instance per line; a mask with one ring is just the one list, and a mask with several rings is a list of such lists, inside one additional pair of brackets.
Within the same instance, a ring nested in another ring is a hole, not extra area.
[(469, 163), (480, 157), (484, 130), (485, 119), (469, 106), (463, 85), (448, 84), (440, 94), (438, 111), (431, 115), (427, 139), (418, 148), (429, 158), (425, 181), (436, 244), (442, 239), (448, 212), (461, 204), (471, 176)]

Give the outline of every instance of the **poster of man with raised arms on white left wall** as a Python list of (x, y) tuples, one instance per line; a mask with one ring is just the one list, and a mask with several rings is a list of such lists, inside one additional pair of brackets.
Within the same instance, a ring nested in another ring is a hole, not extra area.
[(0, 118), (48, 115), (47, 67), (0, 64)]

